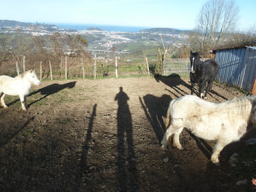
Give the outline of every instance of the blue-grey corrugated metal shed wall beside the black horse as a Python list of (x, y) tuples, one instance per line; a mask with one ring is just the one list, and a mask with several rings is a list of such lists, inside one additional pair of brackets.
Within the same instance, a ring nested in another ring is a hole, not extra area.
[(214, 52), (220, 64), (220, 81), (252, 91), (256, 78), (256, 47), (232, 47)]

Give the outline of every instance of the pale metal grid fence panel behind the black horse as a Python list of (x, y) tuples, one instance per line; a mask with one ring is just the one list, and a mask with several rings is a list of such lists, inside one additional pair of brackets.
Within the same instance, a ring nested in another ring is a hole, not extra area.
[[(210, 58), (201, 58), (206, 61)], [(168, 58), (163, 60), (163, 75), (172, 77), (189, 77), (190, 60), (189, 58)]]

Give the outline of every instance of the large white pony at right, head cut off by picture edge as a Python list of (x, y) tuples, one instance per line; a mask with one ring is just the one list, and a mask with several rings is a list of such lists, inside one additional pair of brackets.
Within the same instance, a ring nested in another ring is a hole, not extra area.
[(211, 161), (220, 165), (218, 156), (222, 149), (227, 144), (238, 141), (247, 132), (247, 126), (255, 123), (256, 96), (245, 96), (219, 104), (193, 95), (182, 96), (170, 102), (162, 148), (168, 150), (167, 140), (174, 134), (173, 145), (183, 149), (179, 135), (186, 128), (197, 137), (217, 140)]

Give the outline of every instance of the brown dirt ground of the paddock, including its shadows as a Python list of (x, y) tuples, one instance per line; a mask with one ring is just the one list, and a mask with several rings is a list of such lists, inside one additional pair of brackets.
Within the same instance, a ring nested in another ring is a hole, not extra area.
[[(215, 141), (186, 129), (180, 134), (183, 150), (160, 148), (169, 102), (187, 94), (189, 78), (151, 77), (43, 81), (32, 87), (28, 111), (17, 96), (6, 96), (9, 108), (0, 108), (0, 191), (256, 191), (255, 157), (243, 155), (255, 132), (227, 145), (221, 166), (209, 160)], [(208, 101), (243, 95), (214, 83)], [(251, 163), (230, 166), (235, 152)]]

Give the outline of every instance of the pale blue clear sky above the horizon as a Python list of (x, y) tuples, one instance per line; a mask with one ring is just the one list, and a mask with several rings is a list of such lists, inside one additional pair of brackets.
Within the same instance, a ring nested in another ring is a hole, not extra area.
[[(1, 0), (0, 20), (193, 29), (207, 0)], [(256, 0), (235, 0), (239, 28), (256, 23)], [(58, 26), (58, 25), (57, 25)]]

